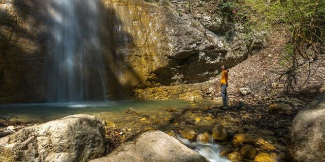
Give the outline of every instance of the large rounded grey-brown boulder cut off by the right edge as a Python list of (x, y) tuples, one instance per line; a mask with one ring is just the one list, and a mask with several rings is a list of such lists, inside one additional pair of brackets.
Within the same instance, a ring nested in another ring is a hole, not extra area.
[(316, 97), (295, 117), (289, 154), (299, 162), (325, 161), (325, 94)]

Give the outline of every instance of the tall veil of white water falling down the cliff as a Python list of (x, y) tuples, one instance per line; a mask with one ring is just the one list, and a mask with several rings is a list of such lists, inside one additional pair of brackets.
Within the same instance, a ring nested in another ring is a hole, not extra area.
[(53, 0), (49, 102), (106, 100), (100, 0)]

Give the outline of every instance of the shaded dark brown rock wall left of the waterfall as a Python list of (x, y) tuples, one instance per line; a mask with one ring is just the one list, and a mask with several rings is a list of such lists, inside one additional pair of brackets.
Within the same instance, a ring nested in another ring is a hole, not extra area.
[(0, 1), (0, 103), (44, 99), (43, 6), (44, 1)]

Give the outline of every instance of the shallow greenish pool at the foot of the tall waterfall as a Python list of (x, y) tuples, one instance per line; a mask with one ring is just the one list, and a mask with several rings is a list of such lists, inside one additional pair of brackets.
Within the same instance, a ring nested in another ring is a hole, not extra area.
[(112, 115), (121, 115), (123, 111), (129, 107), (133, 107), (139, 113), (157, 114), (158, 112), (166, 111), (167, 109), (181, 110), (185, 108), (202, 108), (216, 104), (217, 103), (211, 100), (199, 100), (197, 103), (189, 103), (184, 100), (124, 100), (9, 104), (0, 105), (0, 116), (5, 118), (17, 116), (22, 123), (44, 123), (46, 121), (80, 113), (96, 115), (100, 118), (104, 118), (105, 120), (111, 120)]

